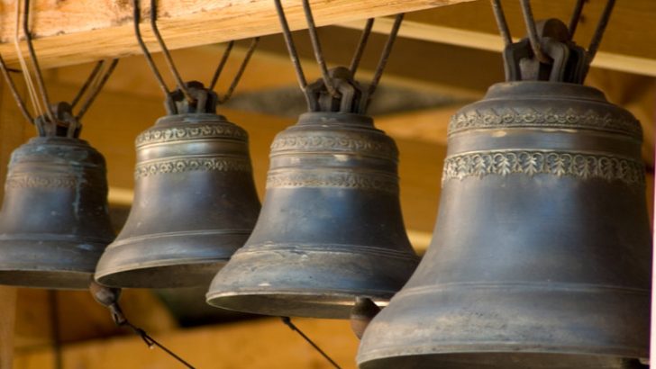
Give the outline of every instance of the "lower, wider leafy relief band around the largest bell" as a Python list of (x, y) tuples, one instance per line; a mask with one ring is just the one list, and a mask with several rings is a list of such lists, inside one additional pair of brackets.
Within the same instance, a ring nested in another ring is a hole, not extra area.
[(511, 174), (576, 176), (644, 184), (644, 166), (639, 160), (555, 151), (489, 151), (447, 157), (442, 184), (470, 176)]

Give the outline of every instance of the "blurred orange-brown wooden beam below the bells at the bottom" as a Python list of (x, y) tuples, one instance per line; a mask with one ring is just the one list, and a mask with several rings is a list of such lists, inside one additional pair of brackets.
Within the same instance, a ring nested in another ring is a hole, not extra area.
[[(355, 369), (358, 340), (346, 320), (293, 320), (343, 368)], [(178, 329), (153, 335), (197, 368), (315, 368), (333, 366), (278, 319), (255, 320), (200, 329)], [(67, 368), (181, 367), (159, 348), (148, 349), (141, 338), (111, 338), (63, 347)], [(50, 369), (50, 348), (17, 350), (15, 368)]]

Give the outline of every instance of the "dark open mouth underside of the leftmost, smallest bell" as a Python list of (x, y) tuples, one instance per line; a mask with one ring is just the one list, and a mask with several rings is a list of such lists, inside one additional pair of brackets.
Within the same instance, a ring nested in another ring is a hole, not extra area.
[[(2, 268), (2, 266), (0, 266)], [(92, 272), (74, 270), (0, 270), (0, 284), (49, 290), (87, 290), (93, 278)]]

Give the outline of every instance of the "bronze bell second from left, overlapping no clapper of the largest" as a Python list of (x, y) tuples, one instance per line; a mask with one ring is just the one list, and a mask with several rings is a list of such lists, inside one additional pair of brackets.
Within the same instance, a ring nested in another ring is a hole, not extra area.
[(100, 284), (207, 285), (243, 245), (260, 212), (248, 134), (215, 113), (217, 96), (187, 83), (169, 115), (136, 139), (132, 210), (96, 269)]

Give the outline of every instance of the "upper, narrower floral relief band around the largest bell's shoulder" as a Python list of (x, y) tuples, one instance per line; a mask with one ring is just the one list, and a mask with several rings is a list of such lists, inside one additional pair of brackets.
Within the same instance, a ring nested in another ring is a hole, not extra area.
[(635, 119), (618, 117), (616, 114), (601, 114), (569, 108), (566, 111), (547, 109), (485, 109), (458, 112), (451, 117), (449, 134), (460, 130), (503, 127), (545, 127), (566, 129), (614, 130), (642, 139), (642, 128)]

